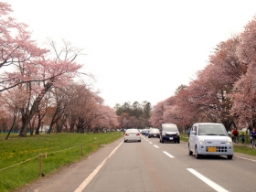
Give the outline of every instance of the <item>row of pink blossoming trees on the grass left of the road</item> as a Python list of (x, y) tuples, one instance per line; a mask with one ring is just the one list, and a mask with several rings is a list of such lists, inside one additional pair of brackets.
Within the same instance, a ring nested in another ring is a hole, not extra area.
[[(113, 109), (103, 105), (97, 91), (74, 78), (87, 75), (76, 62), (80, 48), (48, 39), (49, 49), (38, 48), (27, 25), (9, 16), (11, 6), (0, 2), (0, 126), (18, 127), (20, 136), (38, 133), (43, 123), (61, 132), (83, 132), (116, 126)], [(87, 75), (90, 77), (90, 75)], [(0, 127), (0, 128), (1, 128)]]

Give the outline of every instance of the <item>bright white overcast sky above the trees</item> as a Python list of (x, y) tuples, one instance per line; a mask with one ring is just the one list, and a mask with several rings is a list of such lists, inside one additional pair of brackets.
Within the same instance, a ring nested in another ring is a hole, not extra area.
[[(3, 0), (2, 0), (3, 1)], [(5, 2), (5, 1), (4, 1)], [(240, 34), (255, 0), (7, 0), (43, 48), (47, 38), (83, 49), (82, 72), (104, 104), (152, 106), (189, 85), (221, 42)]]

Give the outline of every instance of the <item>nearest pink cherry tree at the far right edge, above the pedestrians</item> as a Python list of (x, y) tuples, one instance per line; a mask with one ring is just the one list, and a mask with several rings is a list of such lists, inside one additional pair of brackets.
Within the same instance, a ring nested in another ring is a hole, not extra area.
[(248, 66), (247, 73), (243, 74), (235, 84), (230, 97), (234, 101), (232, 112), (246, 127), (256, 126), (256, 16), (244, 27), (240, 34), (238, 55), (240, 62)]

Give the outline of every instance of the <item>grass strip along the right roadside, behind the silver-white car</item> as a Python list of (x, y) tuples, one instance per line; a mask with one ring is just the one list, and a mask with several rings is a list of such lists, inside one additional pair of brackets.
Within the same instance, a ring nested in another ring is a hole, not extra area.
[[(188, 142), (187, 134), (183, 133), (180, 135), (180, 140)], [(246, 155), (256, 156), (256, 149), (249, 147), (249, 141), (246, 141), (244, 145), (234, 144), (234, 152)]]

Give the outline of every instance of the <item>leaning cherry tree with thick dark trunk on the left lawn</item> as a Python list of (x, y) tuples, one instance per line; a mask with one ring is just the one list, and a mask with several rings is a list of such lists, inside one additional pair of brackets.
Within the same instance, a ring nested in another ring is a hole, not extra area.
[[(79, 75), (78, 69), (80, 69), (81, 65), (73, 61), (73, 59), (77, 57), (77, 53), (67, 53), (65, 51), (65, 49), (59, 50), (59, 54), (57, 54), (58, 58), (55, 60), (45, 59), (41, 60), (40, 63), (37, 63), (37, 68), (39, 69), (39, 71), (37, 71), (37, 75), (40, 75), (42, 79), (45, 80), (37, 83), (30, 82), (26, 85), (26, 88), (24, 88), (28, 91), (29, 102), (27, 102), (27, 108), (21, 111), (23, 124), (21, 127), (20, 136), (27, 135), (27, 125), (37, 112), (40, 101), (42, 101), (45, 94), (53, 87), (62, 87), (68, 85), (74, 77)], [(64, 54), (64, 59), (62, 60), (60, 59), (61, 54)], [(69, 54), (72, 54), (72, 56), (69, 56)], [(26, 68), (26, 65), (24, 66)]]

